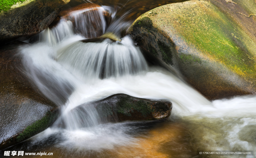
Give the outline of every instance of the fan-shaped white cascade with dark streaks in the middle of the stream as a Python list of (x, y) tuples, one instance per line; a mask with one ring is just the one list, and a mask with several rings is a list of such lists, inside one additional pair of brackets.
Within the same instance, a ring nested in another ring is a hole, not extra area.
[(57, 61), (84, 78), (109, 78), (147, 70), (140, 48), (130, 37), (122, 41), (74, 42), (57, 53)]

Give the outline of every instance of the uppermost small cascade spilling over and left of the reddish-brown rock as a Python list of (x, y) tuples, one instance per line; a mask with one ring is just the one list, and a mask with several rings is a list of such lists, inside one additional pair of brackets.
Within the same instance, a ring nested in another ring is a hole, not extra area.
[(107, 12), (103, 7), (74, 10), (61, 17), (55, 27), (47, 28), (30, 39), (30, 42), (46, 42), (56, 45), (78, 34), (84, 38), (100, 37), (106, 30)]

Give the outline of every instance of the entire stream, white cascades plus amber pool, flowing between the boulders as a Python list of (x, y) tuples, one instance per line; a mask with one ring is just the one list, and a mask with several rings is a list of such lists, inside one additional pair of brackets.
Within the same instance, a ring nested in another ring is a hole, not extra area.
[[(104, 10), (115, 16), (114, 8), (99, 8), (93, 21), (101, 27), (91, 27), (92, 17), (80, 10), (72, 14), (76, 25), (61, 19), (20, 47), (27, 75), (61, 106), (61, 114), (13, 150), (52, 157), (199, 157), (197, 150), (256, 150), (256, 96), (208, 101), (171, 72), (148, 65), (129, 36), (84, 42), (96, 37), (93, 29), (118, 34), (130, 25), (124, 14), (107, 27)], [(169, 100), (172, 114), (165, 121), (103, 124), (94, 108), (77, 108), (116, 93)]]

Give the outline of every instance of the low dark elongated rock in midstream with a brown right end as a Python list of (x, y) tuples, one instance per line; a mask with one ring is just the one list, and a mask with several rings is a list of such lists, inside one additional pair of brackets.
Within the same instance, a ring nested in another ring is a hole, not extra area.
[(101, 122), (166, 119), (172, 110), (171, 102), (136, 98), (127, 94), (114, 94), (80, 106), (93, 106)]

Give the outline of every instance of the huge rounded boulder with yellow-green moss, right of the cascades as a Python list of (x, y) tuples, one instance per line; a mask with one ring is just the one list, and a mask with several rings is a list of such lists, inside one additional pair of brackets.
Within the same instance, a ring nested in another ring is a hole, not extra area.
[(256, 2), (187, 1), (141, 15), (127, 31), (208, 99), (255, 94)]

